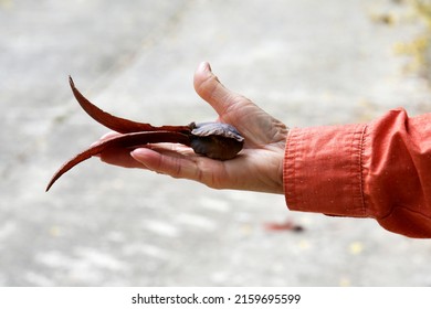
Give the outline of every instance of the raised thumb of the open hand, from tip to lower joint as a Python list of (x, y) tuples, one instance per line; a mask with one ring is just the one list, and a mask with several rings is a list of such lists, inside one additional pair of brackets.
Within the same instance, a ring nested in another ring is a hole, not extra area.
[(198, 95), (208, 102), (221, 117), (236, 104), (238, 95), (220, 83), (208, 62), (202, 62), (198, 66), (195, 72), (193, 85)]

